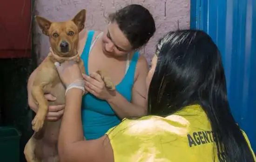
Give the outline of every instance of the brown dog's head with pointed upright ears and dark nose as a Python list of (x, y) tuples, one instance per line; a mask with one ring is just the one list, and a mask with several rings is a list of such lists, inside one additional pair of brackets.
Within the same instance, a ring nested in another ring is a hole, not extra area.
[(49, 37), (54, 53), (59, 56), (76, 54), (79, 32), (84, 29), (86, 10), (78, 12), (73, 19), (64, 22), (51, 22), (43, 17), (35, 16), (42, 32)]

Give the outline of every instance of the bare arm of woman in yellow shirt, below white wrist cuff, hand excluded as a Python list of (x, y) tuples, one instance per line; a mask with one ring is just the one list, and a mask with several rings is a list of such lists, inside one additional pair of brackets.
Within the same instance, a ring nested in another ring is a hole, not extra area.
[(81, 98), (81, 89), (73, 88), (67, 91), (58, 141), (61, 162), (114, 162), (112, 147), (107, 136), (96, 140), (84, 140)]

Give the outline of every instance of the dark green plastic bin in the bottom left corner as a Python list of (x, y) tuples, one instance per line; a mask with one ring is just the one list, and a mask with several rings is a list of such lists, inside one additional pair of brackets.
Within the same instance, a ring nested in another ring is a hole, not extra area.
[(20, 162), (20, 132), (13, 127), (0, 127), (0, 162)]

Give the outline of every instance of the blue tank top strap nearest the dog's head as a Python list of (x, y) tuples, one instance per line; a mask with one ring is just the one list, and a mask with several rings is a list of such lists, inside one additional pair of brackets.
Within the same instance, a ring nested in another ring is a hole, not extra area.
[(81, 59), (84, 62), (86, 74), (88, 75), (88, 56), (90, 52), (91, 43), (94, 37), (94, 31), (88, 31), (86, 43), (81, 54)]

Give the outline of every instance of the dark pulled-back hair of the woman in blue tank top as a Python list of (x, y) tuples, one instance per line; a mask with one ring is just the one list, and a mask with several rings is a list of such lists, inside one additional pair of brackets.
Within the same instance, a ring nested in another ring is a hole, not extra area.
[(155, 21), (145, 7), (128, 5), (109, 15), (111, 22), (116, 22), (127, 37), (133, 49), (148, 43), (155, 33)]

